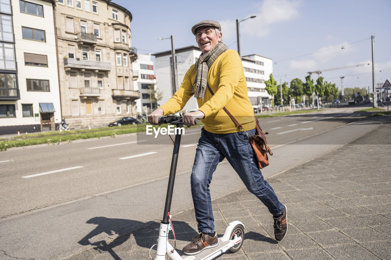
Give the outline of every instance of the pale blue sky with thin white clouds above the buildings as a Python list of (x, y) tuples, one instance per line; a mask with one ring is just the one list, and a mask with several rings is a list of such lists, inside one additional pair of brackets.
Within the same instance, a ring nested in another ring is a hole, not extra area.
[[(371, 36), (375, 36), (376, 83), (391, 82), (391, 0), (113, 0), (128, 9), (132, 46), (139, 53), (157, 53), (196, 45), (191, 27), (202, 20), (221, 24), (222, 40), (237, 50), (236, 19), (241, 53), (273, 59), (273, 76), (280, 82), (305, 81), (308, 71), (324, 71), (324, 81), (372, 92)], [(276, 64), (275, 64), (276, 63)], [(370, 65), (368, 65), (368, 63)], [(317, 74), (312, 74), (316, 82)]]

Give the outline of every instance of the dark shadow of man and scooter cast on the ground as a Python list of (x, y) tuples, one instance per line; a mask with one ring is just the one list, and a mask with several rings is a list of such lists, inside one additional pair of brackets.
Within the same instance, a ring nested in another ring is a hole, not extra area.
[[(119, 252), (130, 251), (132, 249), (131, 242), (125, 243), (131, 237), (134, 237), (137, 246), (147, 249), (151, 248), (153, 244), (156, 244), (160, 227), (160, 223), (154, 221), (143, 223), (142, 221), (112, 219), (108, 217), (93, 217), (86, 221), (86, 223), (97, 224), (98, 226), (79, 240), (78, 243), (83, 246), (91, 245), (94, 250), (100, 252), (108, 252), (113, 259), (116, 260), (121, 260), (120, 256), (118, 256)], [(197, 235), (197, 232), (188, 223), (183, 221), (172, 221), (172, 224), (176, 231), (176, 240), (178, 241), (188, 241), (192, 236)], [(100, 235), (101, 233), (106, 233), (108, 236), (119, 235), (120, 237), (110, 242), (107, 242), (106, 240), (90, 242), (90, 239)], [(169, 238), (173, 239), (171, 232)]]

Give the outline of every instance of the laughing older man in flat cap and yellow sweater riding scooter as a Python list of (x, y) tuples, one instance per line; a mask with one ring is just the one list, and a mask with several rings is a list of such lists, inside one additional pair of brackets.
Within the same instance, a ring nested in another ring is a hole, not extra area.
[[(157, 125), (158, 118), (182, 110), (194, 95), (199, 109), (185, 113), (183, 121), (187, 126), (195, 125), (195, 119), (202, 119), (204, 123), (190, 177), (200, 234), (192, 238), (183, 252), (194, 255), (218, 245), (209, 185), (217, 164), (224, 158), (230, 162), (247, 189), (273, 215), (274, 236), (280, 241), (287, 233), (287, 208), (264, 180), (249, 143), (248, 135), (255, 134), (255, 118), (239, 54), (235, 50), (228, 50), (222, 43), (221, 26), (217, 21), (201, 21), (192, 27), (192, 33), (202, 54), (187, 71), (174, 96), (148, 116), (149, 123)], [(239, 121), (245, 132), (240, 131), (222, 110), (223, 107)]]

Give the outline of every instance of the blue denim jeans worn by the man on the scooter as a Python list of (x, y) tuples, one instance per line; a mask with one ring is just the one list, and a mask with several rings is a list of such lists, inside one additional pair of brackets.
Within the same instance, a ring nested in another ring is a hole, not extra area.
[[(247, 133), (255, 134), (255, 128)], [(284, 207), (273, 188), (264, 180), (246, 133), (213, 134), (202, 129), (190, 177), (198, 232), (215, 231), (209, 184), (217, 164), (224, 158), (227, 158), (249, 192), (260, 199), (271, 214), (283, 214)]]

